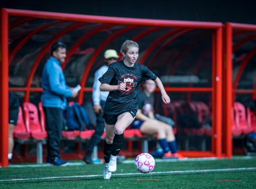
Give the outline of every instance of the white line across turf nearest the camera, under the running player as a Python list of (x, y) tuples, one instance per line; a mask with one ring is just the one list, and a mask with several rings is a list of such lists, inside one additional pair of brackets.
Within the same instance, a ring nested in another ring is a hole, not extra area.
[[(200, 172), (221, 172), (221, 171), (241, 171), (241, 170), (256, 170), (256, 167), (247, 167), (247, 168), (228, 168), (228, 169), (203, 169), (203, 170), (187, 170), (187, 171), (160, 171), (160, 172), (152, 172), (153, 174), (166, 174), (166, 173), (200, 173)], [(143, 175), (142, 173), (117, 173), (112, 174), (112, 176), (127, 176), (127, 175)], [(38, 178), (17, 178), (17, 179), (6, 179), (0, 180), (0, 182), (4, 181), (24, 181), (24, 180), (44, 180), (44, 179), (66, 179), (66, 178), (87, 178), (87, 177), (102, 177), (103, 175), (77, 175), (77, 176), (62, 176), (62, 177), (38, 177)]]

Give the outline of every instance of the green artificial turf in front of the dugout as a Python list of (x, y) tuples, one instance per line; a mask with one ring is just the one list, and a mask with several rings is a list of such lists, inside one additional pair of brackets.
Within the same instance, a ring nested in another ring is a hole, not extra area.
[[(190, 171), (175, 173), (137, 174), (134, 164), (118, 164), (114, 173), (136, 173), (112, 175), (110, 180), (102, 175), (103, 165), (77, 165), (67, 167), (22, 167), (0, 168), (0, 188), (256, 188), (256, 169), (193, 172), (193, 170), (250, 168), (256, 167), (256, 158), (221, 159), (208, 161), (156, 162), (152, 171)], [(43, 177), (62, 177), (41, 179)], [(63, 178), (65, 177), (65, 178)], [(31, 178), (38, 178), (33, 179)]]

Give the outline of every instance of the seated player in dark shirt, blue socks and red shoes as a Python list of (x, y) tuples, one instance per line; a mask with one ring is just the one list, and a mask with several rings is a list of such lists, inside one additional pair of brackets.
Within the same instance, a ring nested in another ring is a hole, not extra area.
[(157, 134), (157, 140), (164, 151), (163, 158), (176, 157), (183, 159), (184, 157), (177, 153), (177, 144), (172, 126), (154, 117), (152, 94), (155, 89), (156, 84), (154, 81), (146, 80), (143, 82), (143, 91), (137, 97), (139, 109), (131, 128), (139, 129), (145, 135)]

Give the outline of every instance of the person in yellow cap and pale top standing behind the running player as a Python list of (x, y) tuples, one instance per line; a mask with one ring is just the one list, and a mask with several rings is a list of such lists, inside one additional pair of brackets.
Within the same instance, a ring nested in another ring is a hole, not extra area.
[(99, 78), (108, 70), (108, 67), (112, 62), (116, 62), (118, 58), (118, 54), (113, 49), (108, 49), (104, 53), (105, 65), (99, 68), (94, 74), (94, 82), (93, 82), (93, 90), (92, 90), (92, 100), (93, 100), (93, 109), (97, 115), (97, 126), (95, 129), (95, 133), (91, 137), (87, 152), (83, 158), (84, 162), (87, 164), (92, 164), (92, 151), (95, 145), (100, 141), (100, 137), (105, 129), (105, 122), (103, 119), (103, 109), (105, 106), (105, 102), (107, 100), (109, 91), (100, 91), (100, 81)]

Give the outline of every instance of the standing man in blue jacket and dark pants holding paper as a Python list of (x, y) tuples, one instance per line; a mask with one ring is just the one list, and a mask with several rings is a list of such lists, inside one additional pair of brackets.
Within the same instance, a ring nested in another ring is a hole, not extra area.
[(51, 57), (45, 63), (42, 73), (42, 87), (44, 90), (41, 102), (48, 133), (46, 162), (61, 166), (69, 164), (69, 161), (64, 161), (59, 156), (64, 119), (63, 110), (66, 108), (66, 97), (77, 96), (77, 92), (66, 85), (65, 76), (61, 68), (66, 56), (66, 45), (61, 42), (55, 42), (51, 47)]

